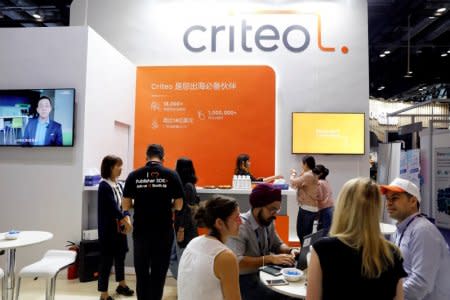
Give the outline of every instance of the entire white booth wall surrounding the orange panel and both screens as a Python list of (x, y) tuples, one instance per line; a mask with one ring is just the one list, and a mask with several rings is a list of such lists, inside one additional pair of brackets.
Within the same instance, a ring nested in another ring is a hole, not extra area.
[[(270, 168), (285, 178), (291, 168), (299, 169), (302, 158), (291, 154), (292, 112), (362, 112), (368, 116), (364, 1), (302, 2), (295, 7), (196, 3), (75, 0), (71, 27), (0, 30), (4, 45), (0, 48), (0, 88), (76, 89), (74, 147), (0, 149), (4, 199), (0, 228), (47, 230), (55, 236), (41, 246), (18, 251), (18, 267), (36, 260), (43, 249), (62, 248), (66, 240), (79, 241), (87, 206), (95, 201), (93, 193), (83, 188), (83, 176), (91, 168), (98, 169), (104, 155), (115, 153), (126, 160), (123, 177), (142, 164), (144, 153), (136, 151), (134, 142), (135, 135), (143, 133), (134, 127), (140, 68), (256, 65), (272, 69), (275, 147)], [(217, 49), (212, 51), (211, 31), (218, 26), (226, 32), (220, 32), (220, 39), (217, 35)], [(207, 32), (193, 32), (186, 46), (183, 35), (189, 28)], [(201, 45), (208, 50), (191, 51)], [(255, 106), (258, 100), (251, 99)], [(367, 118), (365, 130), (366, 154), (315, 155), (330, 169), (335, 195), (348, 179), (369, 174)], [(158, 142), (158, 133), (149, 139), (148, 143)], [(219, 142), (226, 146), (227, 141)], [(170, 149), (167, 152), (170, 155)], [(171, 157), (168, 165), (173, 167), (175, 159)], [(266, 164), (260, 157), (252, 162)], [(296, 211), (296, 204), (289, 203), (288, 214), (296, 216)]]

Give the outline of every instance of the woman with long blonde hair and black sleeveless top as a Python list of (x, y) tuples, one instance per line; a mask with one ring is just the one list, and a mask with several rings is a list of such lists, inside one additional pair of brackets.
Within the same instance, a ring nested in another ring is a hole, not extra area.
[(347, 181), (339, 193), (330, 237), (313, 244), (307, 299), (403, 299), (400, 250), (380, 232), (379, 187)]

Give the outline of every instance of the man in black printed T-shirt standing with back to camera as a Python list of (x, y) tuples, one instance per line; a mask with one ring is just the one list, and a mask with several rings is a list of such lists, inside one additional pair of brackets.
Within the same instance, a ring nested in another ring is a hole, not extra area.
[(162, 165), (163, 159), (161, 145), (148, 146), (146, 165), (128, 175), (123, 191), (127, 222), (128, 210), (134, 207), (134, 268), (139, 300), (162, 298), (174, 238), (172, 206), (175, 218), (180, 218), (183, 208), (180, 177)]

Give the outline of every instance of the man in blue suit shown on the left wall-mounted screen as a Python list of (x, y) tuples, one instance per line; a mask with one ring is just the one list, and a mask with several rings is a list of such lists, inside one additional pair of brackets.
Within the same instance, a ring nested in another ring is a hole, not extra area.
[(28, 146), (62, 146), (61, 124), (50, 120), (52, 101), (42, 96), (37, 104), (37, 118), (28, 120), (23, 134), (23, 144)]

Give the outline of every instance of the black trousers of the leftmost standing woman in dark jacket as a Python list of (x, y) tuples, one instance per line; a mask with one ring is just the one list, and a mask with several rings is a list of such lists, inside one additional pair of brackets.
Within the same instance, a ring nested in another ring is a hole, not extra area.
[(125, 279), (125, 255), (126, 252), (117, 253), (101, 253), (100, 266), (98, 274), (98, 291), (107, 292), (109, 275), (111, 273), (111, 267), (114, 261), (114, 270), (116, 273), (116, 281), (122, 281)]

